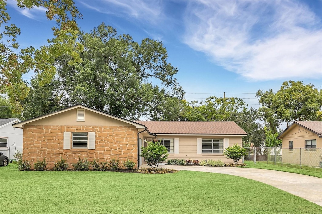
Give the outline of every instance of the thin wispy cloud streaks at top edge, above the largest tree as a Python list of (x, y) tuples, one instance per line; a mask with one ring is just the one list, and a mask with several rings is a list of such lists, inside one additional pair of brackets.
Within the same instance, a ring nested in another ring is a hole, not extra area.
[(113, 14), (128, 19), (135, 18), (143, 22), (156, 24), (164, 17), (163, 4), (160, 1), (81, 1), (81, 4), (99, 13)]

